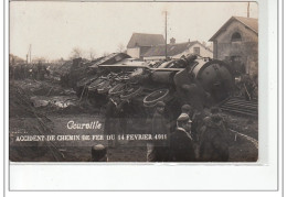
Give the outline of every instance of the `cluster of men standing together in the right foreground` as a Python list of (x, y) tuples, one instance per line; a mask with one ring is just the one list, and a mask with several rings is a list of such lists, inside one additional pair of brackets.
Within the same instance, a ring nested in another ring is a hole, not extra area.
[(177, 127), (170, 129), (164, 119), (164, 102), (159, 101), (152, 118), (152, 133), (167, 133), (168, 140), (147, 144), (148, 162), (226, 162), (232, 133), (220, 109), (208, 114), (189, 105), (182, 106)]

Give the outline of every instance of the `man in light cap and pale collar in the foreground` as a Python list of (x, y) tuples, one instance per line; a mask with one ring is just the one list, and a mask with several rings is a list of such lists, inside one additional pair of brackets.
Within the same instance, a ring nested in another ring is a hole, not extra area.
[(170, 162), (194, 162), (194, 142), (188, 132), (191, 120), (187, 113), (181, 113), (177, 120), (177, 129), (170, 135)]

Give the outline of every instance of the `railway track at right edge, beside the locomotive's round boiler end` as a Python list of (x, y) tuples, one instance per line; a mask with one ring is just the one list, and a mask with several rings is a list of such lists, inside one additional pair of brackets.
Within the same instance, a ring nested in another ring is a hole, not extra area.
[(232, 97), (226, 99), (220, 105), (222, 111), (234, 114), (258, 117), (258, 102), (257, 100), (246, 101), (242, 98)]

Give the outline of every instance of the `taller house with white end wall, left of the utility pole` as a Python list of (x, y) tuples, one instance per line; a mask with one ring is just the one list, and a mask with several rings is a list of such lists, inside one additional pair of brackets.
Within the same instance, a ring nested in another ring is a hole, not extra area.
[(164, 43), (161, 34), (134, 33), (127, 45), (127, 54), (134, 58), (142, 58), (151, 46)]

